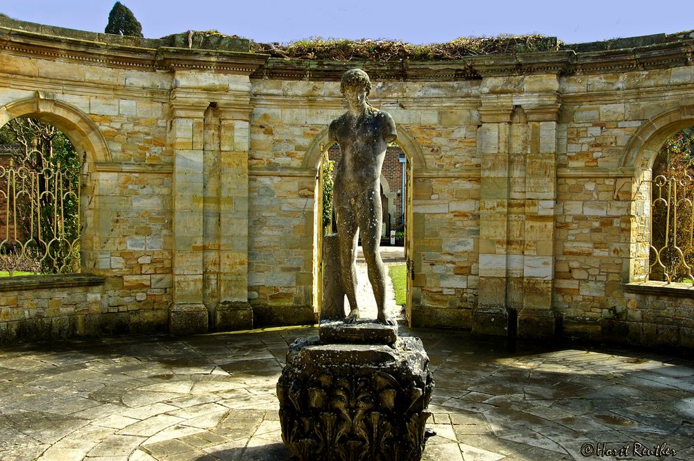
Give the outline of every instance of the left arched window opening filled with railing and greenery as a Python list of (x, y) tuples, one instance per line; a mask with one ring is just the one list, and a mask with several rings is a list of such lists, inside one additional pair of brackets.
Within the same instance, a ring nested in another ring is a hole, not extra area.
[(0, 277), (81, 271), (82, 162), (51, 123), (0, 128)]

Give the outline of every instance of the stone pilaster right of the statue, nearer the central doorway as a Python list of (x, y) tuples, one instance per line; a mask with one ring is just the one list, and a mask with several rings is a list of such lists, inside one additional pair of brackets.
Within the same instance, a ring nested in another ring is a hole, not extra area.
[(480, 171), (480, 283), (473, 311), (475, 333), (505, 336), (507, 313), (507, 219), (509, 213), (509, 128), (513, 104), (508, 95), (484, 95), (477, 130)]

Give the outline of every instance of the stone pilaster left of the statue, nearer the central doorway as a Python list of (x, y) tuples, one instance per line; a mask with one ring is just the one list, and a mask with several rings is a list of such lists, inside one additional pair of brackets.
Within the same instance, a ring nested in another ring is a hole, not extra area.
[(249, 116), (247, 109), (220, 107), (218, 330), (253, 327), (248, 304)]

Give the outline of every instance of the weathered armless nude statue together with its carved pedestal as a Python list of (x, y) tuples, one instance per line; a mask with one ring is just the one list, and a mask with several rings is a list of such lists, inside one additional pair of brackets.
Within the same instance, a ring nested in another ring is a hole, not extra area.
[[(384, 313), (380, 259), (380, 174), (396, 139), (393, 119), (366, 103), (369, 76), (347, 71), (341, 91), (348, 112), (330, 123), (339, 143), (333, 205), (337, 234), (323, 238), (323, 304), (319, 336), (289, 347), (277, 384), (282, 440), (301, 461), (418, 461), (431, 415), (434, 379), (419, 338), (398, 336)], [(378, 318), (359, 320), (357, 230)], [(345, 315), (347, 295), (350, 313)]]

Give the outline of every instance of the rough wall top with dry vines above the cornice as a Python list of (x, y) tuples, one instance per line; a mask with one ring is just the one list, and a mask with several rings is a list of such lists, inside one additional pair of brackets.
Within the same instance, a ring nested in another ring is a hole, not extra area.
[(337, 62), (436, 62), (461, 60), (478, 55), (520, 55), (525, 53), (548, 53), (573, 51), (591, 53), (618, 49), (638, 49), (644, 46), (668, 46), (694, 42), (694, 31), (673, 34), (643, 35), (640, 37), (614, 38), (602, 42), (564, 44), (557, 37), (546, 35), (500, 35), (498, 37), (459, 37), (446, 43), (414, 45), (398, 40), (344, 40), (312, 38), (289, 44), (260, 43), (225, 35), (218, 31), (185, 31), (158, 39), (127, 37), (77, 31), (69, 28), (45, 26), (12, 19), (0, 13), (0, 27), (39, 33), (52, 37), (88, 40), (105, 44), (135, 46), (146, 49), (174, 47), (180, 49), (234, 51), (269, 55), (271, 58), (293, 58), (296, 60), (332, 60)]

